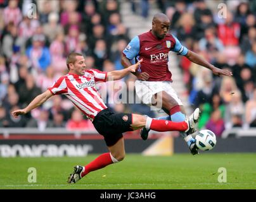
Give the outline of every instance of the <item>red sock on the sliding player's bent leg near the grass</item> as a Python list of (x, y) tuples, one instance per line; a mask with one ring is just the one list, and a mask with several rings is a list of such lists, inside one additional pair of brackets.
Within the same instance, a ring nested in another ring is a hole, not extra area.
[(110, 157), (110, 153), (103, 153), (99, 155), (99, 157), (95, 158), (91, 163), (86, 165), (86, 170), (82, 173), (82, 177), (87, 175), (89, 172), (94, 170), (102, 169), (106, 167), (106, 165), (112, 164), (112, 158)]

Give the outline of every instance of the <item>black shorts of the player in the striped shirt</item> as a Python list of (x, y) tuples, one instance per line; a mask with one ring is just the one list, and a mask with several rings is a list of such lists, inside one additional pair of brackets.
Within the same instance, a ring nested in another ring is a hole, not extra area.
[(115, 145), (122, 138), (122, 133), (133, 131), (131, 124), (132, 114), (117, 114), (108, 108), (101, 110), (93, 120), (94, 127), (104, 136), (107, 146)]

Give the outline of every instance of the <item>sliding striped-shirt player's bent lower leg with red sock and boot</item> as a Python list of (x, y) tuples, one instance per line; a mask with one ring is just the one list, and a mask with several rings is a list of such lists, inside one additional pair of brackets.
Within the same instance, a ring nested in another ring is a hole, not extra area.
[(99, 155), (85, 166), (75, 166), (73, 174), (70, 174), (70, 177), (68, 177), (68, 183), (75, 183), (85, 175), (89, 174), (89, 172), (99, 170), (112, 163), (122, 161), (125, 157), (124, 138), (120, 138), (115, 145), (108, 146), (108, 150), (110, 152)]

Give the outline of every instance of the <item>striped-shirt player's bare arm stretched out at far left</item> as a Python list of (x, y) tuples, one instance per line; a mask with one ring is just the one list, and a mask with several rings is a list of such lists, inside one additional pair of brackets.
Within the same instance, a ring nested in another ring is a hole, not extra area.
[(34, 100), (32, 100), (32, 102), (27, 105), (27, 107), (25, 107), (24, 109), (15, 110), (11, 112), (11, 115), (16, 118), (19, 115), (27, 114), (28, 112), (30, 112), (30, 110), (35, 109), (36, 107), (46, 102), (46, 100), (48, 100), (52, 95), (53, 94), (49, 90), (46, 90), (46, 92), (37, 95), (37, 97), (35, 97)]

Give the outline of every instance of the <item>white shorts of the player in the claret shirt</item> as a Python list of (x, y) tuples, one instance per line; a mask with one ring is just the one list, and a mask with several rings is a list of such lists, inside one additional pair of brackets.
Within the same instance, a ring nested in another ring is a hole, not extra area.
[(152, 96), (158, 92), (167, 92), (176, 100), (178, 105), (183, 105), (176, 91), (172, 88), (170, 81), (135, 81), (136, 94), (143, 104), (151, 105)]

